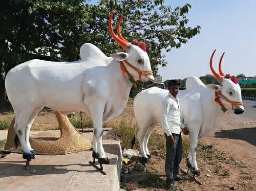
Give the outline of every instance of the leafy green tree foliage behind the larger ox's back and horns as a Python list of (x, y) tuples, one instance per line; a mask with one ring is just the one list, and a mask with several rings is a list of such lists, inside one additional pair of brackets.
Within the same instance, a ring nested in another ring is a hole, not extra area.
[[(172, 8), (164, 0), (101, 0), (89, 4), (83, 0), (5, 0), (0, 2), (0, 107), (3, 106), (4, 79), (17, 64), (32, 58), (73, 61), (79, 49), (91, 42), (106, 55), (120, 51), (108, 29), (108, 19), (115, 10), (124, 15), (122, 35), (147, 45), (154, 74), (165, 66), (162, 50), (169, 52), (199, 34), (200, 27), (188, 27), (186, 14), (191, 6)], [(50, 53), (50, 57), (44, 57)], [(2, 96), (1, 96), (2, 95)]]

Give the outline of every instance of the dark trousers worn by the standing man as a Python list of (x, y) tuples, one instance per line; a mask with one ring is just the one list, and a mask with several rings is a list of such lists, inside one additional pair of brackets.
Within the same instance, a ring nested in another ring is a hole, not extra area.
[(174, 176), (179, 174), (179, 166), (182, 159), (182, 138), (180, 134), (174, 134), (174, 143), (170, 143), (169, 137), (165, 134), (166, 139), (166, 159), (165, 173), (166, 181), (173, 182)]

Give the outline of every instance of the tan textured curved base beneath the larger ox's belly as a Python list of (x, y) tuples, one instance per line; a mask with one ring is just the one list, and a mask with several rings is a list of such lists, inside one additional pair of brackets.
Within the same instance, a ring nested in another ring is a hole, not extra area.
[[(90, 150), (92, 148), (92, 141), (77, 131), (70, 123), (67, 116), (62, 115), (57, 111), (55, 111), (55, 114), (60, 128), (60, 137), (57, 139), (30, 137), (30, 145), (36, 154), (68, 154)], [(13, 118), (7, 135), (5, 151), (20, 152), (20, 146), (15, 149), (15, 131), (13, 128), (14, 123), (15, 120)]]

